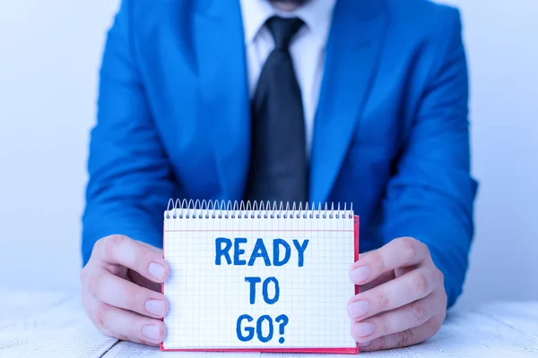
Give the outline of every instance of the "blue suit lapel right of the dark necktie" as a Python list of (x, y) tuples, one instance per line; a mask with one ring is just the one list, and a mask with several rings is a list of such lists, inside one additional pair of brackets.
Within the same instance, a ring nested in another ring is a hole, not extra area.
[(325, 202), (343, 164), (377, 69), (385, 0), (339, 0), (325, 48), (311, 158), (310, 201)]

